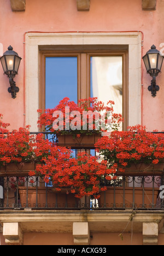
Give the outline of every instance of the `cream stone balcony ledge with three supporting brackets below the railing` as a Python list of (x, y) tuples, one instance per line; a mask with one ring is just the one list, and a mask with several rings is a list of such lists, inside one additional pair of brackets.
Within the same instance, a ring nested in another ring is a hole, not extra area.
[[(132, 219), (131, 219), (132, 216)], [(2, 211), (5, 243), (23, 244), (26, 232), (67, 232), (74, 244), (89, 244), (90, 232), (118, 233), (125, 229), (143, 234), (143, 244), (157, 244), (163, 233), (163, 211)], [(132, 224), (133, 222), (133, 224)]]

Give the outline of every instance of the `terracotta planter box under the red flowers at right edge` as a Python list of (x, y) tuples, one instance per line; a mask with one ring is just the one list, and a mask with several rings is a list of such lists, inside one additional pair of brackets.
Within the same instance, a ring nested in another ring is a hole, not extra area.
[(162, 175), (164, 174), (164, 163), (132, 163), (130, 167), (125, 167), (125, 172), (116, 172), (116, 175)]

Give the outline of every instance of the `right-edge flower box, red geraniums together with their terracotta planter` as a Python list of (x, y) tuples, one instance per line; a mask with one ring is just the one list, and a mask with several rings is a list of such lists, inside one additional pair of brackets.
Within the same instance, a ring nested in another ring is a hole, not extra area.
[(138, 124), (127, 131), (117, 130), (109, 137), (102, 136), (95, 148), (118, 175), (162, 175), (163, 144), (163, 133), (147, 132), (145, 126)]

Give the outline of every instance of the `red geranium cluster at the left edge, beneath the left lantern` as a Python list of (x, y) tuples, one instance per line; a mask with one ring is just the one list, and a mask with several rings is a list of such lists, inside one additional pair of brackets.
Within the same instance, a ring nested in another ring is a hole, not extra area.
[(29, 126), (9, 132), (0, 115), (0, 166), (10, 162), (33, 162), (49, 153), (49, 141), (42, 134), (30, 135)]

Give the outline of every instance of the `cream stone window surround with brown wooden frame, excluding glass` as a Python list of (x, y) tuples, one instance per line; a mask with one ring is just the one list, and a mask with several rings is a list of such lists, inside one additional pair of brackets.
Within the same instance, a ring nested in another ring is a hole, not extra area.
[[(78, 98), (90, 96), (91, 56), (122, 56), (122, 112), (126, 123), (141, 123), (140, 32), (27, 32), (25, 35), (25, 121), (37, 131), (37, 109), (45, 103), (45, 55), (77, 57)], [(86, 64), (86, 65), (83, 65)], [(83, 74), (81, 76), (80, 74)], [(124, 122), (125, 128), (127, 124)]]

